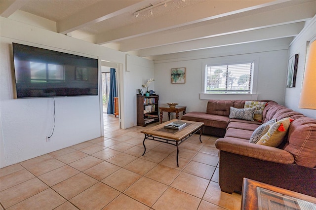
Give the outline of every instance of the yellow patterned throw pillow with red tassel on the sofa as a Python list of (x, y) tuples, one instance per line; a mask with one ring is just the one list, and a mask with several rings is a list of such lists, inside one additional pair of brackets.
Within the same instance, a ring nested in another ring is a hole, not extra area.
[(257, 144), (277, 147), (283, 141), (290, 122), (289, 117), (277, 121), (269, 128), (268, 132), (258, 140)]

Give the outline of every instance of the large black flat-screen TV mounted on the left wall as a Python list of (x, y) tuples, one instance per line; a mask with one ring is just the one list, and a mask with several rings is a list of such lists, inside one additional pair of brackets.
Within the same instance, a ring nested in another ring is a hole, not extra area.
[(97, 59), (12, 44), (17, 98), (98, 95)]

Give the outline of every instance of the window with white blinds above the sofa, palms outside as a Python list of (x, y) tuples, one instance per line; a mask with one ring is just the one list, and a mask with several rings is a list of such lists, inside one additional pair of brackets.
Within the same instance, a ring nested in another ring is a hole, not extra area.
[(254, 62), (207, 65), (206, 93), (251, 93)]

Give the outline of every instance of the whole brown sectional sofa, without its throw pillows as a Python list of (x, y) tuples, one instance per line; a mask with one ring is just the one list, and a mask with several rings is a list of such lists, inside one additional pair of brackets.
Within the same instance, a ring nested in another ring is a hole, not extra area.
[(230, 106), (243, 108), (245, 101), (210, 100), (206, 112), (189, 112), (183, 120), (204, 122), (204, 134), (219, 149), (219, 185), (227, 193), (241, 192), (243, 177), (316, 197), (316, 119), (273, 101), (263, 110), (265, 123), (291, 117), (287, 135), (277, 147), (249, 143), (262, 123), (230, 119)]

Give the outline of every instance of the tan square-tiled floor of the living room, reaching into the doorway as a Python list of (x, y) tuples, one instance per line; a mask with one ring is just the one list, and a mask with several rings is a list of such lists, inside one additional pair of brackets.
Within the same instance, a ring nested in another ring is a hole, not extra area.
[(146, 141), (142, 156), (144, 127), (104, 116), (104, 138), (0, 169), (0, 210), (240, 209), (241, 195), (218, 185), (217, 138), (181, 144), (177, 167), (175, 146)]

